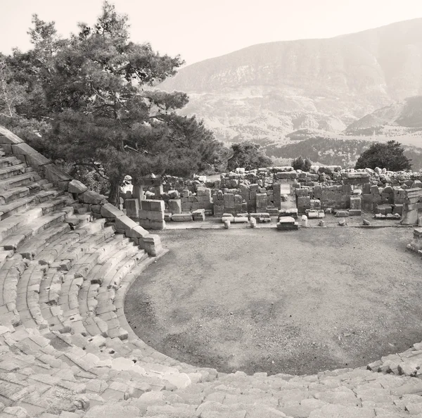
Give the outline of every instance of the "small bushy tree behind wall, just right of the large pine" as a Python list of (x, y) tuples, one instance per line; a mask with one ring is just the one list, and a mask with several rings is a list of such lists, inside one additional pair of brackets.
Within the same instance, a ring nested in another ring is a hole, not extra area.
[(231, 145), (233, 155), (227, 162), (227, 170), (236, 170), (237, 167), (244, 167), (246, 170), (269, 167), (271, 158), (267, 157), (259, 144), (252, 141), (243, 141)]

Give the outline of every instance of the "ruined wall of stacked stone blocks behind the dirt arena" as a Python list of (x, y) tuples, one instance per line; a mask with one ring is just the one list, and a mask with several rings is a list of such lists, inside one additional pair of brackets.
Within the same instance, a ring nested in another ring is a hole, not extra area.
[[(417, 224), (421, 180), (421, 172), (345, 170), (340, 166), (312, 166), (310, 172), (293, 170), (293, 167), (248, 172), (238, 169), (222, 174), (215, 181), (206, 177), (194, 180), (163, 177), (160, 187), (146, 189), (142, 197), (146, 198), (144, 210), (142, 201), (139, 207), (130, 209), (134, 205), (130, 201), (131, 191), (124, 195), (124, 207), (129, 217), (151, 229), (164, 228), (165, 221), (170, 219), (193, 220), (198, 214), (198, 219), (205, 215), (221, 217), (224, 213), (276, 215), (289, 204), (290, 208), (298, 208), (298, 213), (327, 209), (348, 210), (350, 215), (361, 215), (362, 211), (382, 215), (397, 213), (404, 217), (403, 223)], [(408, 196), (413, 189), (417, 198)]]

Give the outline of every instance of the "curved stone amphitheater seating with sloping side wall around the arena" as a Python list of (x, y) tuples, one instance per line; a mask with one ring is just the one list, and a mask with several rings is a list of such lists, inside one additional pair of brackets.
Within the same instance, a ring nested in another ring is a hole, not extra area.
[(123, 304), (159, 237), (3, 128), (0, 148), (0, 417), (422, 417), (422, 343), (309, 376), (158, 353)]

